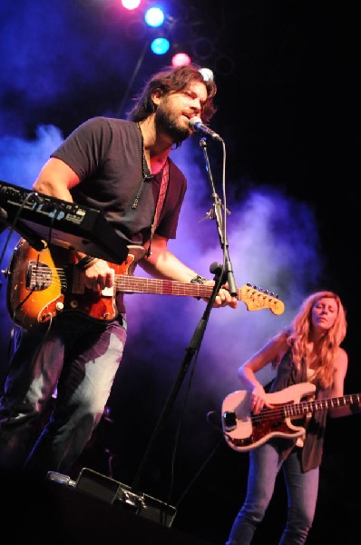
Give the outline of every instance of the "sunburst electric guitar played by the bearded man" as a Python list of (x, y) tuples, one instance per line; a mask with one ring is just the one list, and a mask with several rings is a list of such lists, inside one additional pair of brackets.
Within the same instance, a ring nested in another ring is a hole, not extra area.
[[(52, 246), (39, 252), (20, 239), (5, 271), (7, 310), (15, 323), (31, 329), (63, 312), (81, 312), (89, 319), (112, 321), (118, 315), (116, 292), (211, 296), (212, 286), (133, 276), (144, 254), (141, 246), (129, 246), (122, 264), (109, 263), (114, 272), (114, 285), (99, 293), (84, 286), (83, 275), (74, 266), (69, 249)], [(274, 314), (282, 314), (285, 310), (277, 296), (261, 292), (251, 284), (238, 290), (237, 299), (244, 302), (249, 311), (269, 309)]]

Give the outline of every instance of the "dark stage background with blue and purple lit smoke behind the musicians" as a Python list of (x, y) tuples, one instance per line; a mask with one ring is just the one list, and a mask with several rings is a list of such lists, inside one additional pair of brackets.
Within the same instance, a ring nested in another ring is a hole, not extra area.
[[(236, 281), (276, 292), (286, 310), (282, 316), (247, 312), (239, 302), (235, 312), (211, 312), (197, 365), (185, 369), (204, 304), (128, 296), (129, 340), (109, 400), (111, 417), (103, 419), (73, 477), (85, 466), (131, 484), (164, 403), (184, 375), (141, 473), (141, 488), (177, 505), (174, 527), (221, 545), (243, 500), (248, 469), (247, 454), (229, 449), (220, 433), (221, 401), (239, 389), (239, 364), (292, 319), (307, 293), (328, 288), (340, 294), (348, 320), (345, 390), (361, 391), (360, 14), (348, 1), (220, 5), (211, 0), (205, 5), (188, 0), (163, 6), (177, 24), (172, 43), (187, 45), (192, 60), (212, 69), (218, 84), (211, 126), (226, 142), (226, 195), (220, 145), (210, 142), (208, 151), (216, 190), (223, 202), (226, 196), (230, 212)], [(115, 0), (5, 0), (0, 15), (0, 180), (25, 188), (75, 126), (94, 115), (124, 116), (132, 97), (151, 74), (171, 63), (175, 50), (164, 57), (152, 54), (151, 31), (134, 25)], [(201, 44), (209, 46), (206, 52)], [(209, 275), (210, 263), (221, 261), (221, 253), (215, 222), (202, 221), (212, 201), (199, 140), (196, 134), (172, 152), (187, 174), (189, 191), (171, 250)], [(7, 230), (0, 236), (4, 270), (18, 237), (13, 233), (8, 240)], [(5, 289), (4, 277), (2, 380), (12, 325)], [(262, 380), (270, 377), (266, 373)], [(209, 411), (214, 411), (211, 422)], [(308, 542), (336, 544), (358, 529), (359, 426), (357, 416), (329, 423)], [(258, 543), (278, 542), (286, 510), (279, 481)]]

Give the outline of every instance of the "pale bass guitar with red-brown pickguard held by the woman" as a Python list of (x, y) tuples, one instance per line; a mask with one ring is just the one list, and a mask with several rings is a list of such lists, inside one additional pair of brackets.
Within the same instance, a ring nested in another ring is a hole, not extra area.
[(343, 395), (327, 400), (299, 401), (312, 396), (316, 390), (310, 382), (300, 382), (284, 390), (266, 394), (272, 408), (264, 407), (259, 414), (249, 409), (250, 392), (233, 391), (222, 403), (222, 429), (229, 447), (234, 451), (251, 451), (272, 437), (297, 438), (306, 428), (292, 423), (321, 409), (345, 407), (361, 401), (361, 393)]

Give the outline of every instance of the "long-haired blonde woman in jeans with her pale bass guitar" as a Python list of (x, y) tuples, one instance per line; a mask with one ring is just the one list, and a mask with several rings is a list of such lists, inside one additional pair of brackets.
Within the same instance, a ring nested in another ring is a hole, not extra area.
[[(348, 357), (340, 344), (345, 336), (346, 312), (338, 295), (315, 292), (287, 330), (239, 367), (247, 391), (235, 391), (223, 402), (223, 426), (231, 448), (249, 451), (249, 478), (226, 545), (252, 542), (281, 468), (288, 514), (278, 544), (307, 540), (316, 510), (327, 413), (346, 416), (360, 406), (361, 394), (344, 396)], [(266, 393), (255, 373), (268, 363), (277, 367), (277, 374)], [(294, 404), (305, 395), (308, 401)], [(310, 417), (307, 422), (302, 415)], [(295, 417), (302, 425), (290, 423)]]

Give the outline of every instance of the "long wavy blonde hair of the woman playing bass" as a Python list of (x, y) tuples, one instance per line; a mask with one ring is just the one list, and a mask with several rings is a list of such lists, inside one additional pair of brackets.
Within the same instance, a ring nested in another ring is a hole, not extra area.
[(300, 365), (301, 361), (307, 361), (307, 342), (312, 328), (312, 309), (315, 304), (324, 297), (332, 298), (337, 302), (337, 318), (333, 326), (325, 332), (320, 339), (315, 362), (316, 380), (322, 388), (332, 386), (334, 377), (334, 362), (337, 350), (346, 337), (346, 310), (334, 292), (315, 292), (301, 304), (298, 314), (292, 321), (288, 333), (288, 344), (292, 350), (293, 361)]

